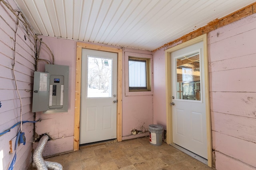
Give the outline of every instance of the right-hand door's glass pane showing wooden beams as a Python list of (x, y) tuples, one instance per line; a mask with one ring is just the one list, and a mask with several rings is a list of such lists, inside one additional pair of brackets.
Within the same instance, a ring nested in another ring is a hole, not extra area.
[(177, 99), (201, 100), (200, 54), (190, 54), (176, 59)]

